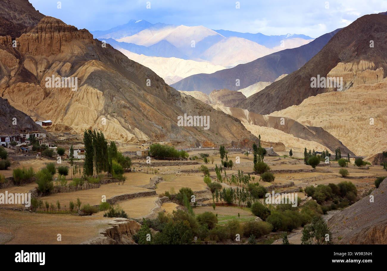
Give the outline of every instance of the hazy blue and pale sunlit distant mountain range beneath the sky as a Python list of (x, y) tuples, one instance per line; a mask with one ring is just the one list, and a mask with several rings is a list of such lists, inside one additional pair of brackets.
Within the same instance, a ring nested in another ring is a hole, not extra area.
[[(145, 20), (130, 20), (127, 24), (104, 31), (92, 31), (91, 34), (94, 38), (109, 43), (118, 50), (125, 49), (137, 55), (152, 57), (146, 60), (150, 63), (149, 67), (158, 65), (157, 61), (152, 63), (156, 60), (154, 57), (163, 57), (210, 62), (213, 65), (223, 66), (223, 69), (251, 62), (276, 51), (305, 45), (313, 40), (302, 34), (267, 36), (262, 33), (212, 30), (204, 26), (152, 24)], [(176, 59), (168, 62), (175, 62), (174, 65), (186, 63)], [(183, 67), (183, 70), (187, 69)], [(161, 67), (154, 70), (161, 70)], [(219, 69), (208, 72), (217, 70)], [(181, 79), (181, 75), (174, 73), (174, 70), (165, 72), (170, 74), (168, 78), (160, 73), (158, 75), (170, 84), (176, 82), (170, 80), (172, 77)]]

